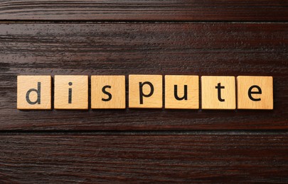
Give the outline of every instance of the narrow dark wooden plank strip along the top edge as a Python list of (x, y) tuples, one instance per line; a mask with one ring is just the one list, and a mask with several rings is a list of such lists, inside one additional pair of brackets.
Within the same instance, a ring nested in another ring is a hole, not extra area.
[(288, 21), (287, 6), (283, 0), (2, 0), (0, 20)]

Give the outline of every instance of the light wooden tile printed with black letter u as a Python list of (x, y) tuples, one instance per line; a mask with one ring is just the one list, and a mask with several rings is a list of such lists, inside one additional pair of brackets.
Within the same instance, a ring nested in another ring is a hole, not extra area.
[(165, 108), (198, 109), (199, 76), (165, 76)]

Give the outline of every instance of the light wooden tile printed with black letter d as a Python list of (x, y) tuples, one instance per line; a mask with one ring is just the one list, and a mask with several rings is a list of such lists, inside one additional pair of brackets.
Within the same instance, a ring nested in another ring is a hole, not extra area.
[(51, 76), (17, 76), (17, 109), (51, 109)]

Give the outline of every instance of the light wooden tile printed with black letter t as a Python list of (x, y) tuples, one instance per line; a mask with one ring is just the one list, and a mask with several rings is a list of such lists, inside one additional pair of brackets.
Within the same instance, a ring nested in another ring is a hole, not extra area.
[(235, 77), (202, 76), (201, 94), (203, 109), (235, 109)]

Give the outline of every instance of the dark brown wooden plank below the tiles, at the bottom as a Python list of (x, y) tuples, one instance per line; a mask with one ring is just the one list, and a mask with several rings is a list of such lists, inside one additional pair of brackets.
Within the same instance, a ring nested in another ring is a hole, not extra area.
[(1, 183), (287, 183), (287, 135), (1, 135)]

